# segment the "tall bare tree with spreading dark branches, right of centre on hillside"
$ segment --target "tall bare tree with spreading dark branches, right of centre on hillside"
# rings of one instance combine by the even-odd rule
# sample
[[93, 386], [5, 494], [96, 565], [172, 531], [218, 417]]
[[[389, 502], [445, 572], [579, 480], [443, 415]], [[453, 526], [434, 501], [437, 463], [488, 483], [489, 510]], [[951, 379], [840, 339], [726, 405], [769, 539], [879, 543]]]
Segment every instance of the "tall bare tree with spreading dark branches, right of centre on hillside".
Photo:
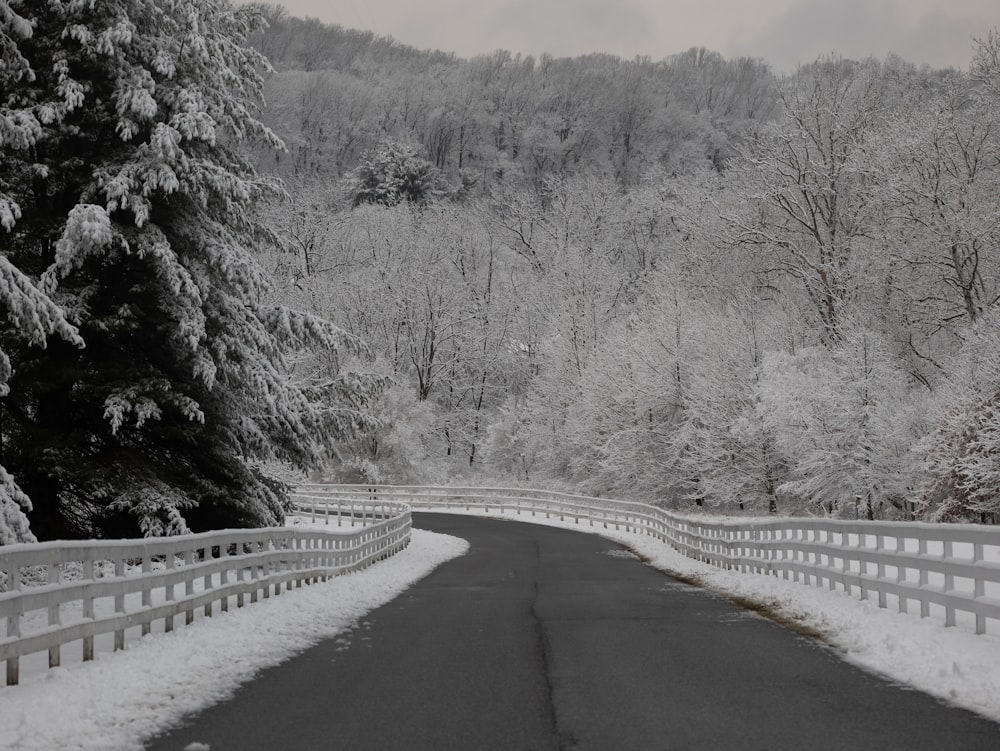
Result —
[[874, 61], [801, 67], [781, 90], [780, 121], [759, 129], [739, 165], [746, 206], [731, 217], [734, 241], [764, 250], [771, 269], [796, 281], [827, 343], [840, 338], [871, 224], [860, 147], [883, 88]]

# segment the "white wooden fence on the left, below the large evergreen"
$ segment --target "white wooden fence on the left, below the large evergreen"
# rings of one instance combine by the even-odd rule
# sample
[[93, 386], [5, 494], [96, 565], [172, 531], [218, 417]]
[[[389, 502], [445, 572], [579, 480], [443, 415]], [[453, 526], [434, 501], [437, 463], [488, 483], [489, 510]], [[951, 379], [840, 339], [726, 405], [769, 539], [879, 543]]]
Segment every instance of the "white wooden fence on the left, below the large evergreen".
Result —
[[[300, 514], [315, 516], [308, 503]], [[393, 502], [344, 505], [340, 528], [319, 526], [223, 530], [144, 540], [55, 541], [0, 547], [0, 662], [6, 683], [19, 679], [20, 658], [48, 650], [49, 667], [61, 649], [81, 642], [94, 657], [94, 637], [114, 634], [124, 649], [125, 630], [163, 621], [171, 631], [184, 615], [211, 616], [213, 607], [243, 607], [331, 576], [366, 568], [405, 548], [410, 510]], [[332, 506], [324, 506], [330, 514]], [[327, 516], [327, 523], [330, 517]], [[356, 527], [344, 529], [343, 527]]]

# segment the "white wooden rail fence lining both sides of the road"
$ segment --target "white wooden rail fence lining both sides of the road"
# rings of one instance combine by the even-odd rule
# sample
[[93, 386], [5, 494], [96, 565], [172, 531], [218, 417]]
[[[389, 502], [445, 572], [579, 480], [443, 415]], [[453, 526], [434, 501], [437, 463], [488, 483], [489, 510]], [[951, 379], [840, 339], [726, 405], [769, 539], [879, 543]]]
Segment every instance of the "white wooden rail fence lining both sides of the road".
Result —
[[[48, 650], [59, 665], [79, 641], [149, 633], [154, 622], [191, 623], [216, 603], [227, 610], [282, 587], [325, 580], [370, 565], [409, 543], [410, 508], [477, 510], [559, 518], [652, 536], [691, 558], [723, 568], [841, 588], [901, 612], [956, 624], [968, 613], [976, 633], [1000, 621], [1000, 529], [958, 524], [833, 519], [707, 520], [628, 501], [510, 488], [303, 485], [300, 514], [324, 526], [226, 530], [199, 535], [0, 547], [0, 661], [8, 685], [19, 658]], [[329, 529], [327, 529], [329, 527]], [[334, 529], [336, 527], [336, 529]], [[350, 529], [348, 529], [350, 528]]]

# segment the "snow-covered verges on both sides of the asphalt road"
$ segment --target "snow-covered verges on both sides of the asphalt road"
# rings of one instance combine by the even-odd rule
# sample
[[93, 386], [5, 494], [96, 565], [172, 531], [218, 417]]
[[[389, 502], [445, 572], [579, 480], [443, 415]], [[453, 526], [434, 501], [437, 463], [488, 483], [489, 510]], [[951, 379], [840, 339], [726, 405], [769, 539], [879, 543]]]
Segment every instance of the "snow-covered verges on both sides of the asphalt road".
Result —
[[[513, 512], [504, 518], [527, 521]], [[532, 521], [603, 534], [657, 568], [761, 602], [819, 631], [866, 669], [1000, 721], [995, 634], [976, 636], [962, 623], [944, 628], [940, 620], [900, 615], [842, 592], [721, 571], [649, 537], [541, 516]], [[414, 530], [406, 550], [365, 571], [138, 639], [125, 652], [99, 653], [94, 662], [29, 670], [22, 685], [0, 688], [0, 749], [142, 748], [144, 738], [232, 694], [260, 669], [350, 629], [467, 548], [463, 540]]]

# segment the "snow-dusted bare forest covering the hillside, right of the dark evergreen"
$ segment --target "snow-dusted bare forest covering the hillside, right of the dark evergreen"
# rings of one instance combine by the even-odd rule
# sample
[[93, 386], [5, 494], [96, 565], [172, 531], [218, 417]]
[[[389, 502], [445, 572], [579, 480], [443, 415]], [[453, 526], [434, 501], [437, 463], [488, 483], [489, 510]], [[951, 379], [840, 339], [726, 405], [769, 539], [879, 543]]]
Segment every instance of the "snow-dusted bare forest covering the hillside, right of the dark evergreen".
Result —
[[[394, 386], [339, 479], [995, 521], [1000, 40], [470, 60], [264, 7], [265, 259]], [[269, 161], [272, 160], [272, 161]]]

